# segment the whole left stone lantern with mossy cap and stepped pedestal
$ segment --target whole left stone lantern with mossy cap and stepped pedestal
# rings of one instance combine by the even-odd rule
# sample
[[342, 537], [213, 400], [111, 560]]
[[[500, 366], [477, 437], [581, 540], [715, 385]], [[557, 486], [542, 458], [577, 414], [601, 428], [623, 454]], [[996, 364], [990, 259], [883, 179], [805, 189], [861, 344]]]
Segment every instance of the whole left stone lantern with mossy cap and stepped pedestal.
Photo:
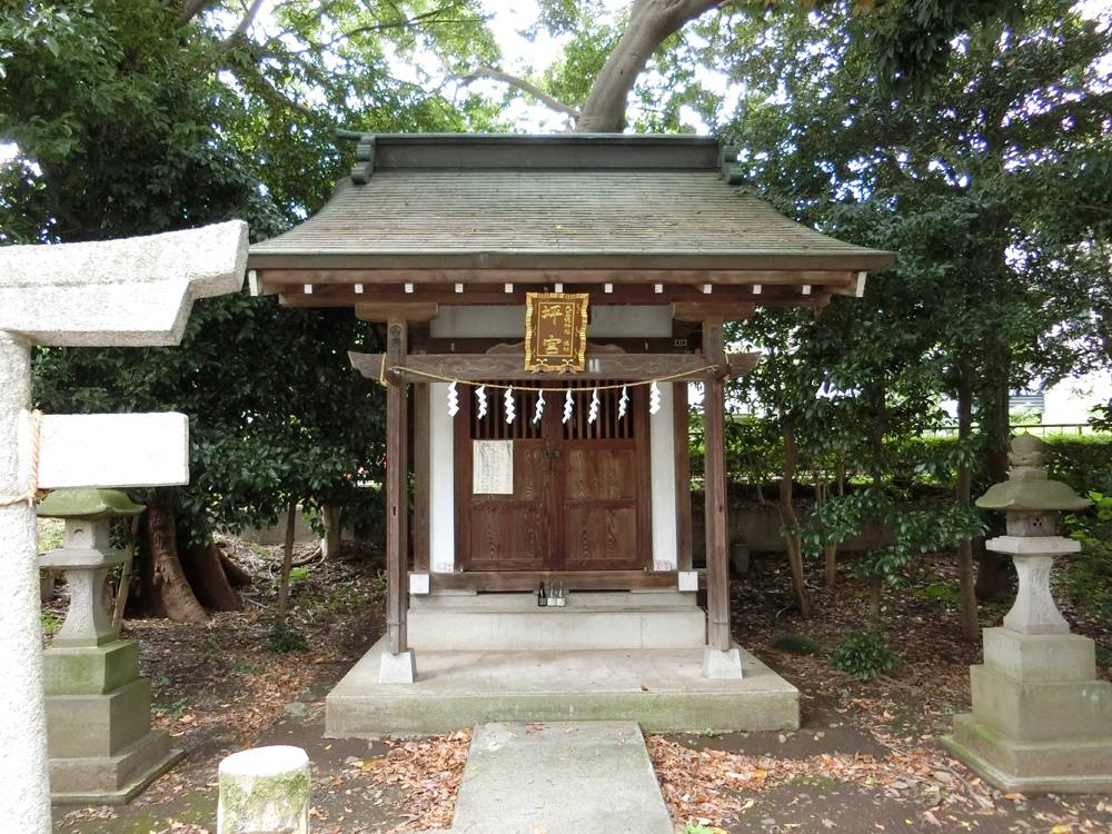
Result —
[[42, 567], [63, 570], [66, 622], [43, 652], [47, 747], [56, 803], [123, 804], [177, 763], [165, 731], [150, 729], [150, 681], [139, 676], [139, 647], [121, 641], [105, 608], [103, 587], [130, 554], [109, 542], [112, 518], [143, 507], [116, 489], [57, 489], [38, 514], [66, 519], [58, 550]]

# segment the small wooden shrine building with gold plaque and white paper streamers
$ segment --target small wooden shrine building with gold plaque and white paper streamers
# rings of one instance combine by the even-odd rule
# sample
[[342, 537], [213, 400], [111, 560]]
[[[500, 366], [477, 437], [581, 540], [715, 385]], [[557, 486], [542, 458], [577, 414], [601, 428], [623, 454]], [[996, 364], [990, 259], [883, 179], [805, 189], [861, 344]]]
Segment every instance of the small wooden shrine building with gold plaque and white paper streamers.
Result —
[[[435, 688], [459, 666], [437, 665], [451, 651], [686, 647], [707, 679], [741, 678], [743, 655], [759, 665], [729, 636], [724, 459], [724, 384], [757, 357], [724, 353], [723, 324], [860, 296], [894, 257], [777, 214], [709, 138], [347, 138], [350, 178], [248, 264], [255, 292], [386, 325], [386, 353], [351, 359], [387, 387], [387, 635], [337, 687], [337, 713], [345, 686]], [[705, 572], [692, 569], [691, 381], [705, 391]], [[566, 606], [539, 608], [542, 585]], [[334, 696], [329, 733], [374, 732], [334, 721]], [[496, 702], [483, 699], [516, 709]]]

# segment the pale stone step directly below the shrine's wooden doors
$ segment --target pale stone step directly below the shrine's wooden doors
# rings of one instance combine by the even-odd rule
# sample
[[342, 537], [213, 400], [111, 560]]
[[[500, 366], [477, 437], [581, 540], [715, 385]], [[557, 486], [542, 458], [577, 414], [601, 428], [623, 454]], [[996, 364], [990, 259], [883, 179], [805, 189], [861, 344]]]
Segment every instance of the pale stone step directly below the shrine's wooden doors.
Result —
[[416, 607], [408, 632], [417, 651], [701, 648], [706, 615], [694, 605]]

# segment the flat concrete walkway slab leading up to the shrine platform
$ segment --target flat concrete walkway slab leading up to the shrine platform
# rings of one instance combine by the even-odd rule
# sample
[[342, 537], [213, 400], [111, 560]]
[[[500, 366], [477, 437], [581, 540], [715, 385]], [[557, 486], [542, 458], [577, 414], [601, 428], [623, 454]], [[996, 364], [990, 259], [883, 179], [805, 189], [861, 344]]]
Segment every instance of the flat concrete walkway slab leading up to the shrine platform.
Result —
[[673, 834], [636, 722], [480, 724], [453, 832]]

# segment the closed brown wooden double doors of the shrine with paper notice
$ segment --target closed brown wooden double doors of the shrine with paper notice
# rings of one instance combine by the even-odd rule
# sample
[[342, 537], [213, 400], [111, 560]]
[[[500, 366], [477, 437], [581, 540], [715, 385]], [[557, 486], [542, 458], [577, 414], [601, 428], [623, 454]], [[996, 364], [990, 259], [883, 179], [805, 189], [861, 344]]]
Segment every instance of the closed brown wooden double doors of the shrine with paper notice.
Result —
[[[456, 548], [465, 570], [639, 570], [649, 565], [644, 386], [627, 389], [629, 403], [622, 418], [622, 390], [598, 391], [598, 417], [589, 421], [590, 385], [567, 383], [574, 391], [567, 423], [562, 394], [545, 393], [544, 414], [535, 424], [538, 393], [515, 387], [517, 417], [507, 424], [504, 389], [486, 389], [488, 407], [481, 419], [474, 389], [461, 393], [456, 416]], [[476, 455], [487, 455], [478, 446], [489, 441], [502, 460], [513, 461], [513, 492], [475, 492], [484, 488], [476, 481], [476, 467], [485, 466]]]

